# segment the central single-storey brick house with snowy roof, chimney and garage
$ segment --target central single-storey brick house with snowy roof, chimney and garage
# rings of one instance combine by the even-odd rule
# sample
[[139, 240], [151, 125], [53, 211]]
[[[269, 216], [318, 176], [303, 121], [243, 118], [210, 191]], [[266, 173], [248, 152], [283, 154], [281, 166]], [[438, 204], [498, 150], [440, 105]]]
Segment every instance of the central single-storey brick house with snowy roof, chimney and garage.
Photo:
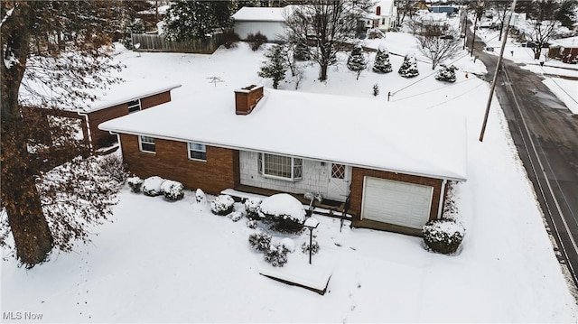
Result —
[[[191, 189], [317, 192], [356, 227], [421, 235], [448, 181], [466, 180], [465, 120], [379, 100], [251, 86], [215, 88], [98, 127], [124, 162]], [[162, 123], [159, 121], [163, 120]]]

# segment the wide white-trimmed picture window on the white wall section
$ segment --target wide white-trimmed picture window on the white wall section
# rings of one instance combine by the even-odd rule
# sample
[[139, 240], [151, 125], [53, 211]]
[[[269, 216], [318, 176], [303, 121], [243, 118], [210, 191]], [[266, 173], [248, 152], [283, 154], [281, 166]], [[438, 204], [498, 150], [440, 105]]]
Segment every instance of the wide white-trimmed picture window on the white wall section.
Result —
[[257, 160], [259, 173], [264, 176], [290, 181], [303, 178], [303, 159], [259, 153]]

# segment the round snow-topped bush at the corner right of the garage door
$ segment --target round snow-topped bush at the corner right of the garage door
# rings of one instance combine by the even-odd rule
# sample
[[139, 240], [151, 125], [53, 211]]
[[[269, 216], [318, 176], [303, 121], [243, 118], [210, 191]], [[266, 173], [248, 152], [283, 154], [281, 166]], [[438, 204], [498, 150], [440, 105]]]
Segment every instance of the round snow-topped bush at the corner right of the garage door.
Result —
[[422, 231], [425, 245], [431, 251], [443, 255], [456, 253], [466, 232], [461, 223], [450, 219], [430, 220], [425, 223]]

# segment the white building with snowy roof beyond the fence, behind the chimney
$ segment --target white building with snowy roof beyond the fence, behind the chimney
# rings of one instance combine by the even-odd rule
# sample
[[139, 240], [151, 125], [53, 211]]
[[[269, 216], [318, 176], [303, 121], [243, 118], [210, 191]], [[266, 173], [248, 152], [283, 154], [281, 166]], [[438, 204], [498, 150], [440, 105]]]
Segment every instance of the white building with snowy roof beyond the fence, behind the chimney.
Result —
[[249, 33], [260, 32], [269, 42], [281, 42], [285, 33], [285, 16], [291, 12], [292, 7], [293, 5], [281, 8], [244, 6], [233, 14], [234, 31], [241, 40], [246, 40]]

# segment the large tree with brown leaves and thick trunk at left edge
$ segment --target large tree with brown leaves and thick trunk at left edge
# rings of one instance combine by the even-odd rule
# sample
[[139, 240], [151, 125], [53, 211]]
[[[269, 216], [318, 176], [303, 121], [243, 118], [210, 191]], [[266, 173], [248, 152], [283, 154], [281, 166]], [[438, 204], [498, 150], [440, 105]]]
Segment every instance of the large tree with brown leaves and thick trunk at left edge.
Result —
[[[117, 7], [117, 2], [96, 0], [6, 0], [0, 6], [0, 245], [8, 244], [10, 231], [15, 256], [27, 267], [45, 261], [52, 248], [70, 251], [75, 238], [86, 239], [89, 226], [107, 218], [114, 203], [108, 190], [90, 182], [86, 168], [78, 176], [66, 168], [47, 175], [63, 157], [82, 154], [81, 144], [66, 121], [31, 123], [23, 119], [23, 107], [78, 106], [96, 98], [93, 89], [116, 81], [107, 76], [121, 68], [112, 63], [109, 48]], [[35, 150], [41, 127], [48, 127], [51, 143]], [[51, 183], [56, 179], [63, 181]]]

